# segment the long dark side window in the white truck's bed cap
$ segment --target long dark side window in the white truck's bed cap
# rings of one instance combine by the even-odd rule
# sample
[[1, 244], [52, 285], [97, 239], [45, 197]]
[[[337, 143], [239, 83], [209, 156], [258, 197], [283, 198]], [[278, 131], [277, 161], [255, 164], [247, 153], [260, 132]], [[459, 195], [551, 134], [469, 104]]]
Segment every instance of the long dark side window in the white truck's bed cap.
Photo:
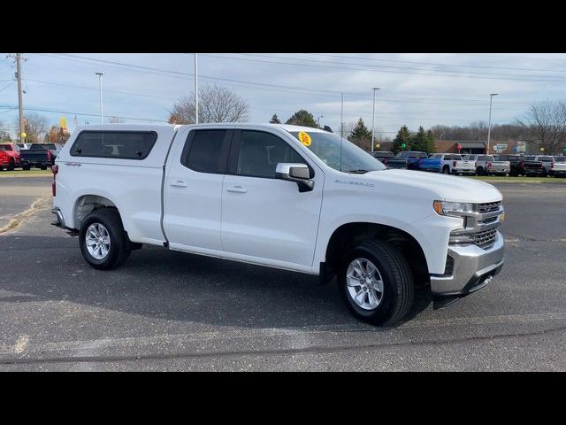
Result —
[[155, 131], [82, 131], [71, 147], [71, 156], [144, 159], [156, 141]]

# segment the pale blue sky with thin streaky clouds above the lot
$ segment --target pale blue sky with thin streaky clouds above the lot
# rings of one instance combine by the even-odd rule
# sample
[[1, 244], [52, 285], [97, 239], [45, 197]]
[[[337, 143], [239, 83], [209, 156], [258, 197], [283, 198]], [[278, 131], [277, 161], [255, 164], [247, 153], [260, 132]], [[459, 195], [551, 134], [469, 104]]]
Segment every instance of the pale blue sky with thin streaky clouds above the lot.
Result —
[[[17, 134], [18, 92], [15, 64], [0, 54], [0, 122]], [[25, 112], [57, 124], [65, 116], [97, 124], [103, 75], [105, 122], [165, 122], [172, 105], [195, 88], [193, 53], [24, 53]], [[434, 125], [466, 126], [487, 121], [489, 94], [493, 124], [524, 116], [531, 104], [566, 98], [565, 54], [464, 53], [199, 53], [199, 83], [233, 89], [249, 102], [249, 121], [267, 122], [273, 113], [287, 120], [306, 109], [334, 131], [343, 120], [372, 119], [376, 91], [376, 137], [394, 137]], [[76, 116], [76, 121], [75, 121]]]

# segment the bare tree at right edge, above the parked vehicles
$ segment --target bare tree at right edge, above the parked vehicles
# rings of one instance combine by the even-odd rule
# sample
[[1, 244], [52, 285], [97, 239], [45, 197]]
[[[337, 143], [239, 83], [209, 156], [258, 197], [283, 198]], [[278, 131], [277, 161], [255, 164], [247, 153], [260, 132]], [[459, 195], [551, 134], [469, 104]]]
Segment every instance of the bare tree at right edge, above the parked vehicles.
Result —
[[558, 153], [566, 143], [566, 103], [563, 101], [533, 104], [518, 122], [526, 131], [527, 141], [544, 148], [548, 155]]

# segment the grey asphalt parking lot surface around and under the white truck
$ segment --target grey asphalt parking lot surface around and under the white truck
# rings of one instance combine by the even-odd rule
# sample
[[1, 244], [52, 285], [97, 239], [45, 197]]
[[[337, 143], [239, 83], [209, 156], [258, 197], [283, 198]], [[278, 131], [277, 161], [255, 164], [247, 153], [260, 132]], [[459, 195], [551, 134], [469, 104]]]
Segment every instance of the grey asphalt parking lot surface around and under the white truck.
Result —
[[4, 177], [0, 370], [566, 370], [566, 184], [496, 186], [501, 274], [373, 328], [308, 275], [153, 247], [96, 271], [50, 226], [50, 178]]

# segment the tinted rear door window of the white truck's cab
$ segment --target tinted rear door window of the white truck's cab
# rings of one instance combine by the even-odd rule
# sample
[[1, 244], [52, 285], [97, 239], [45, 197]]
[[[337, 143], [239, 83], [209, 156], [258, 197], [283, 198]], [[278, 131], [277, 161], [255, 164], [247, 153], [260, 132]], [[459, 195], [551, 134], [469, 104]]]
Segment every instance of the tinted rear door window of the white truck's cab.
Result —
[[181, 164], [199, 173], [224, 173], [228, 150], [228, 130], [196, 130], [187, 138]]

